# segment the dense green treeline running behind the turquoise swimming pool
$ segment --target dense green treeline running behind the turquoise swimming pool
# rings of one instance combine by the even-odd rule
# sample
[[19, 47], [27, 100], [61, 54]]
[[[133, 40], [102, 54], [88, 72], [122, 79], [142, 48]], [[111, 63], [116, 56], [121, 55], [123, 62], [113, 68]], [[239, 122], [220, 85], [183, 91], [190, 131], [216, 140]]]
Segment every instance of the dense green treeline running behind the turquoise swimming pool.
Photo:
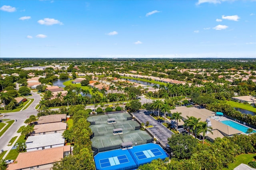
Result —
[[209, 104], [206, 106], [206, 109], [214, 112], [222, 112], [224, 115], [233, 117], [240, 121], [246, 122], [250, 125], [256, 126], [256, 116], [250, 114], [244, 114], [240, 111], [236, 111], [232, 106], [223, 103]]

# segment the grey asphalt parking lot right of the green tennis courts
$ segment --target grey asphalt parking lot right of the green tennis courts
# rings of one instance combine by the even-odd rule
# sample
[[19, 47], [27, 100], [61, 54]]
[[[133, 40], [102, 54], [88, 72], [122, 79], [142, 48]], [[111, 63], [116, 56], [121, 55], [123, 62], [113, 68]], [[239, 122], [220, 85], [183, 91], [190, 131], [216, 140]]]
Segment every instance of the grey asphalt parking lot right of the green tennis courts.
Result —
[[156, 121], [153, 117], [151, 117], [150, 115], [146, 115], [144, 112], [146, 110], [141, 110], [138, 113], [133, 113], [135, 117], [137, 117], [137, 119], [139, 119], [142, 123], [144, 123], [146, 125], [146, 121], [149, 122], [149, 125], [153, 125], [154, 127], [149, 128], [154, 135], [161, 140], [164, 144], [168, 143], [168, 138], [172, 136], [172, 134], [174, 134], [172, 131], [170, 131], [168, 128], [164, 127], [164, 125], [162, 125], [162, 123], [164, 123], [164, 121]]

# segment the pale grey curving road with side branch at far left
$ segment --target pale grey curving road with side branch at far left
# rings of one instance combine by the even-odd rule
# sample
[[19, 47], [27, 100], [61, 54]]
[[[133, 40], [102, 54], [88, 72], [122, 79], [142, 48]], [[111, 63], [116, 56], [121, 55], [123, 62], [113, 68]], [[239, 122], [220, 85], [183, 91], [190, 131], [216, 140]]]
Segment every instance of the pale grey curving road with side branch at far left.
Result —
[[40, 102], [40, 95], [32, 92], [32, 96], [29, 96], [28, 98], [34, 99], [33, 103], [30, 104], [30, 106], [24, 110], [19, 112], [13, 112], [13, 113], [2, 113], [1, 115], [4, 115], [4, 117], [1, 117], [0, 119], [16, 119], [17, 122], [14, 122], [8, 130], [0, 137], [0, 150], [4, 149], [8, 142], [14, 137], [13, 135], [15, 132], [18, 131], [18, 129], [24, 124], [24, 121], [30, 116], [30, 115], [37, 115], [37, 111], [35, 109], [36, 105]]

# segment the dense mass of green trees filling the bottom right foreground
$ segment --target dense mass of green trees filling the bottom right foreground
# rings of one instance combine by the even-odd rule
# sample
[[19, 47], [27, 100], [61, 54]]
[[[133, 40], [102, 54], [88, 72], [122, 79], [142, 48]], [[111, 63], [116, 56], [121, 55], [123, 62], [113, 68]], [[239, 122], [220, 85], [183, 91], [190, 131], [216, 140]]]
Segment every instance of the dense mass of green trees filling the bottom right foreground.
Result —
[[174, 153], [170, 162], [168, 159], [153, 160], [140, 166], [139, 170], [220, 170], [228, 168], [239, 154], [256, 153], [255, 133], [216, 138], [213, 143], [203, 145], [192, 138], [183, 134], [172, 135], [168, 139]]

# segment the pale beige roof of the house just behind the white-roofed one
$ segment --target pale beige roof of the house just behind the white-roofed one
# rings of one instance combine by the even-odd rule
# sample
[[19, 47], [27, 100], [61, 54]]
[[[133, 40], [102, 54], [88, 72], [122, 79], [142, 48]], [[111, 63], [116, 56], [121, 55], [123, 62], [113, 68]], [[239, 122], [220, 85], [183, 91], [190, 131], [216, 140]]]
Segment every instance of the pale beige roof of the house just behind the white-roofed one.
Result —
[[46, 124], [39, 124], [34, 126], [35, 133], [42, 133], [42, 132], [53, 132], [57, 130], [66, 130], [67, 124], [64, 122], [55, 122], [55, 123], [46, 123]]

